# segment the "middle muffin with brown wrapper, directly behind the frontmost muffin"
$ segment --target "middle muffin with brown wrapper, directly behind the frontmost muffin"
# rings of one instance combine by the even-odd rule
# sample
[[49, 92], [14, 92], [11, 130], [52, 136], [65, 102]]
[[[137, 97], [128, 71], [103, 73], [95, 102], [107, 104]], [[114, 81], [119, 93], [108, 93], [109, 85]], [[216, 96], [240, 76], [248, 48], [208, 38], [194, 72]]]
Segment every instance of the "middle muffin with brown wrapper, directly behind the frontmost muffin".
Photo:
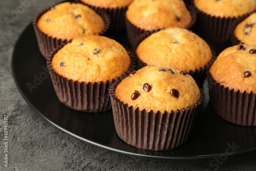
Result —
[[206, 69], [216, 58], [214, 50], [202, 38], [187, 29], [177, 27], [145, 37], [146, 35], [140, 36], [134, 47], [142, 66], [175, 66], [189, 73], [201, 86], [206, 77]]

